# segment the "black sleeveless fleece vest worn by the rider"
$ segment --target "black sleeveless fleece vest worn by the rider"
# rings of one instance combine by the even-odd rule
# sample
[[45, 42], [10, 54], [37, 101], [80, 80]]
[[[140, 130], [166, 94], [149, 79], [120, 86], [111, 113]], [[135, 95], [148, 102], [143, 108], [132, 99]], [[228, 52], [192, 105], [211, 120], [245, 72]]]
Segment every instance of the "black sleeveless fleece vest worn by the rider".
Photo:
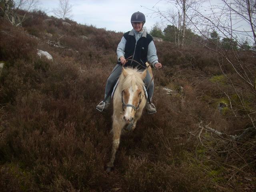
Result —
[[[134, 36], [129, 35], [130, 31], [124, 34], [126, 39], [125, 49], [124, 49], [124, 58], [130, 58], [139, 62], [129, 60], [124, 66], [132, 66], [133, 68], [138, 68], [139, 70], [146, 68], [146, 62], [148, 61], [148, 44], [153, 40], [152, 36], [147, 33], [146, 37], [141, 37], [136, 44], [136, 39]], [[134, 54], [134, 56], [133, 56]], [[118, 62], [121, 64], [121, 62]]]

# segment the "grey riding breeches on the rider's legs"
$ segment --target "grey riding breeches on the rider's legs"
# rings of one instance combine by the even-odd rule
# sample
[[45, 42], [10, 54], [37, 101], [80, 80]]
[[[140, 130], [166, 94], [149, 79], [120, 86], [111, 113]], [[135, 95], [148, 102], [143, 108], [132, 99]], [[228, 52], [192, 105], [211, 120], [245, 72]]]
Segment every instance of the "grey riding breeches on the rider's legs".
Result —
[[[106, 88], [105, 88], [105, 99], [108, 96], [108, 93], [112, 90], [112, 88], [115, 86], [114, 84], [118, 80], [120, 74], [122, 73], [122, 65], [116, 64], [114, 69], [112, 70], [110, 76], [108, 77]], [[151, 77], [149, 72], [147, 71], [146, 78], [144, 78], [144, 83], [146, 84], [146, 88], [148, 87], [148, 97], [150, 98], [150, 101], [152, 100], [152, 96], [154, 93], [154, 80], [151, 81]], [[148, 85], [150, 83], [150, 85]], [[108, 98], [106, 99], [107, 102], [110, 102], [111, 99], [111, 93], [109, 94]]]

